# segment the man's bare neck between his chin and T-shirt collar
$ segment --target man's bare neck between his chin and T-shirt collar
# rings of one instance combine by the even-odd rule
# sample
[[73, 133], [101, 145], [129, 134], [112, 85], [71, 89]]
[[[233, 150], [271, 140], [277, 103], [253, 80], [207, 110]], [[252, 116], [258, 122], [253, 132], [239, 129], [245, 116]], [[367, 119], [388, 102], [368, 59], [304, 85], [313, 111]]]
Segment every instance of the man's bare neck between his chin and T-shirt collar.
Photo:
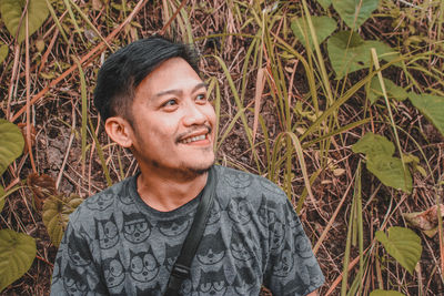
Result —
[[208, 173], [162, 174], [142, 166], [140, 171], [138, 193], [145, 204], [160, 212], [173, 211], [193, 200], [203, 190], [208, 178]]

